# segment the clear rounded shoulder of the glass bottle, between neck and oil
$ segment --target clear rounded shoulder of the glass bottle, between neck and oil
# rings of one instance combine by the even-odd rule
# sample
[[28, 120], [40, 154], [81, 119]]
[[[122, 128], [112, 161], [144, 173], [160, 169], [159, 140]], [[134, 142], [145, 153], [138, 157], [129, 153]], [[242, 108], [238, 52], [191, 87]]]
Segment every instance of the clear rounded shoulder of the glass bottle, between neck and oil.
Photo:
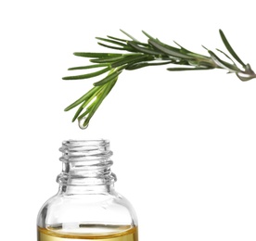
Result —
[[136, 223], [131, 203], [117, 192], [66, 195], [50, 197], [38, 214], [38, 225], [63, 222], [128, 222]]

